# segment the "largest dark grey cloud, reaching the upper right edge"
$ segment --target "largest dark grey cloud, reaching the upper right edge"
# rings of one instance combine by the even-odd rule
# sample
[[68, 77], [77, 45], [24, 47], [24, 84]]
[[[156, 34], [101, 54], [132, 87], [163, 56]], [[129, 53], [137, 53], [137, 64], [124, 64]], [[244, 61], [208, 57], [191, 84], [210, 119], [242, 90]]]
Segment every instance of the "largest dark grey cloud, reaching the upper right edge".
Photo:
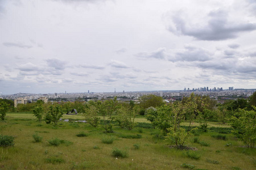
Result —
[[[171, 16], [172, 23], [168, 25], [168, 31], [176, 35], [192, 36], [197, 40], [220, 41], [234, 39], [241, 32], [256, 30], [255, 23], [229, 22], [228, 12], [217, 10], [209, 12], [208, 22], [191, 23], [184, 19], [183, 12], [179, 11]], [[207, 23], [207, 24], [205, 24]]]

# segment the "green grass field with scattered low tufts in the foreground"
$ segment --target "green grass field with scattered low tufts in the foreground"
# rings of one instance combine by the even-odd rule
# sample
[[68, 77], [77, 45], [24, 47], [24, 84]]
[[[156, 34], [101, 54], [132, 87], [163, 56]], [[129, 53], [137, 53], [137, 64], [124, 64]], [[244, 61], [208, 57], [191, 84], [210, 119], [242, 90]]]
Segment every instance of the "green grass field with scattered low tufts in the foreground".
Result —
[[[0, 169], [256, 169], [256, 149], [242, 147], [243, 143], [230, 134], [230, 127], [217, 122], [209, 122], [212, 129], [207, 133], [189, 138], [186, 146], [196, 150], [188, 151], [167, 146], [160, 131], [143, 117], [136, 118], [141, 124], [135, 129], [113, 126], [110, 134], [105, 134], [101, 125], [93, 128], [75, 122], [84, 120], [81, 114], [64, 115], [64, 119], [71, 121], [54, 127], [36, 121], [31, 113], [7, 113], [6, 120], [0, 121], [0, 134], [15, 137], [15, 144], [0, 147]], [[81, 133], [86, 137], [77, 137]], [[42, 142], [35, 142], [34, 134], [43, 137]], [[50, 145], [48, 141], [56, 138], [68, 142]], [[195, 138], [201, 143], [194, 143]], [[113, 156], [114, 149], [125, 153], [125, 158]]]

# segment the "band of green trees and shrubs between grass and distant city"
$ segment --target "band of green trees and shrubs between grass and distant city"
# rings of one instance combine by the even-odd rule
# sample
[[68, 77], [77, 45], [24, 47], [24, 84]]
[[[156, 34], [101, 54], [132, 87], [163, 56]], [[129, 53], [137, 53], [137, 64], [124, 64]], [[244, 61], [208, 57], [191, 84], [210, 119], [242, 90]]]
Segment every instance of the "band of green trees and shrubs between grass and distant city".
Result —
[[[32, 111], [38, 121], [46, 121], [47, 124], [57, 125], [64, 113], [76, 109], [82, 113], [85, 120], [92, 126], [97, 127], [102, 118], [102, 128], [106, 133], [113, 131], [113, 122], [121, 128], [133, 129], [137, 124], [135, 117], [144, 115], [148, 121], [162, 131], [162, 135], [168, 143], [178, 147], [184, 145], [193, 131], [200, 129], [208, 130], [208, 121], [218, 121], [222, 124], [229, 123], [234, 128], [233, 133], [247, 147], [254, 147], [256, 141], [256, 92], [249, 100], [237, 99], [217, 104], [216, 100], [209, 96], [191, 94], [183, 97], [181, 101], [165, 103], [162, 97], [147, 95], [141, 97], [139, 103], [129, 103], [114, 99], [105, 101], [75, 101], [60, 103], [44, 103], [38, 100], [31, 104], [18, 104], [13, 108], [10, 100], [0, 100], [0, 117], [5, 120], [7, 111]], [[181, 122], [188, 122], [185, 129]], [[193, 126], [193, 122], [199, 122], [200, 126]]]

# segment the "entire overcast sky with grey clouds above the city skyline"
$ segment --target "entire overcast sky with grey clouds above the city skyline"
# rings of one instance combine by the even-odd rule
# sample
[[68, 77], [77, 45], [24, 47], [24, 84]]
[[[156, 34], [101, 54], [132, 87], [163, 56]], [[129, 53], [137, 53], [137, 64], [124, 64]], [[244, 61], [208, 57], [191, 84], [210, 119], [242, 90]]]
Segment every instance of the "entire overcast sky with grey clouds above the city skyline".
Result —
[[256, 88], [255, 0], [0, 0], [0, 92]]

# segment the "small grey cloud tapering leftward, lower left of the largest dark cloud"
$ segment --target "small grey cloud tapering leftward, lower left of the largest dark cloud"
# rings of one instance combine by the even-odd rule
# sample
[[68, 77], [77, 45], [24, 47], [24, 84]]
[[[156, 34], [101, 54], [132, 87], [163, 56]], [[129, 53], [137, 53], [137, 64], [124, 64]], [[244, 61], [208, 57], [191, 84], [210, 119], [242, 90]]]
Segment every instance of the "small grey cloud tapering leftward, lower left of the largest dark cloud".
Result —
[[166, 48], [158, 48], [157, 50], [153, 52], [140, 52], [138, 54], [135, 54], [138, 58], [156, 58], [156, 59], [165, 59], [166, 58]]

